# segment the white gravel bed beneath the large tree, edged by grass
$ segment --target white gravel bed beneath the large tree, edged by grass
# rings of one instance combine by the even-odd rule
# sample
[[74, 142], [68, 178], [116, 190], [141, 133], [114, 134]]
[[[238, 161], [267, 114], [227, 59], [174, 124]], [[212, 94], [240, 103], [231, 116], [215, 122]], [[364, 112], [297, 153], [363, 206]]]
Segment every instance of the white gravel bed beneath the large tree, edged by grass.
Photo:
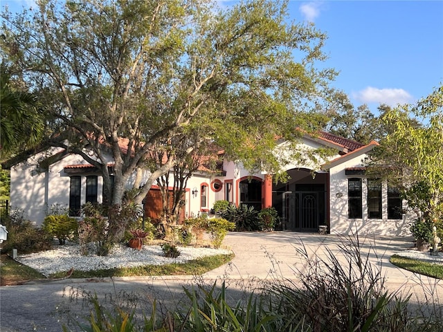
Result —
[[127, 246], [115, 246], [109, 256], [80, 255], [80, 247], [75, 243], [66, 243], [53, 250], [36, 252], [28, 255], [19, 255], [17, 261], [30, 266], [46, 277], [53, 273], [74, 270], [88, 271], [109, 268], [136, 267], [146, 265], [164, 265], [184, 263], [192, 259], [205, 256], [230, 254], [232, 251], [213, 248], [179, 247], [180, 255], [177, 258], [168, 258], [163, 255], [160, 245], [143, 246], [136, 250]]

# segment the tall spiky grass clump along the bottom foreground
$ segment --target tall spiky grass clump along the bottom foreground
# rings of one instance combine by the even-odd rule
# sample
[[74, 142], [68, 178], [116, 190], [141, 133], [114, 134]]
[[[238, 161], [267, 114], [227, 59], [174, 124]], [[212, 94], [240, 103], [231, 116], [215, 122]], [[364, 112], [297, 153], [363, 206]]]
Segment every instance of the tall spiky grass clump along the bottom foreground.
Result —
[[119, 304], [107, 311], [90, 297], [94, 310], [82, 331], [442, 331], [441, 304], [417, 310], [409, 296], [386, 291], [381, 266], [370, 264], [376, 254], [363, 256], [358, 237], [343, 241], [338, 254], [312, 255], [302, 243], [297, 251], [305, 265], [295, 270], [295, 280], [263, 283], [237, 302], [224, 282], [201, 281], [183, 288], [186, 301], [161, 315], [157, 299], [149, 315], [136, 315]]

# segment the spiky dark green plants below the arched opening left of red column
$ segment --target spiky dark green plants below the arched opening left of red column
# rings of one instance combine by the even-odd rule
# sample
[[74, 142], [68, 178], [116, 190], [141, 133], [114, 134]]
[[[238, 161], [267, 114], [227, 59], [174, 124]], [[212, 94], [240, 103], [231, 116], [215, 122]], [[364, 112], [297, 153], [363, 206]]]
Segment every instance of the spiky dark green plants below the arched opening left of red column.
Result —
[[229, 205], [228, 209], [221, 214], [221, 216], [235, 223], [235, 230], [241, 231], [256, 231], [262, 230], [262, 225], [257, 216], [258, 212], [253, 206], [239, 205]]

